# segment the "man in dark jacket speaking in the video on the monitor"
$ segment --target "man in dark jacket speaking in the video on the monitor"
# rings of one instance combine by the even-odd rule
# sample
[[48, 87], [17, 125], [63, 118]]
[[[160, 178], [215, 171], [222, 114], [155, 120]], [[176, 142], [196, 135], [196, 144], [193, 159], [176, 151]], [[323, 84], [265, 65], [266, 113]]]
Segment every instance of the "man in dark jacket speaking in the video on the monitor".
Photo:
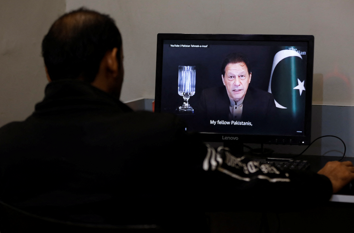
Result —
[[273, 95], [249, 86], [251, 78], [248, 58], [242, 53], [230, 53], [221, 67], [224, 86], [202, 91], [200, 104], [203, 114], [214, 120], [255, 123], [264, 123], [274, 117], [276, 107]]

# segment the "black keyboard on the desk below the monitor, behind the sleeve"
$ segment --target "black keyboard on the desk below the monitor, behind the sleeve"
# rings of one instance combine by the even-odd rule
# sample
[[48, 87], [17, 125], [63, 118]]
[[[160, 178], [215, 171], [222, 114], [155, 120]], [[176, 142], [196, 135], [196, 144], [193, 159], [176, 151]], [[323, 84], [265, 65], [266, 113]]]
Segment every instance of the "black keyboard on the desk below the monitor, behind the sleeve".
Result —
[[295, 160], [295, 159], [254, 159], [259, 161], [259, 164], [269, 164], [276, 167], [279, 170], [307, 170], [310, 166], [307, 160]]

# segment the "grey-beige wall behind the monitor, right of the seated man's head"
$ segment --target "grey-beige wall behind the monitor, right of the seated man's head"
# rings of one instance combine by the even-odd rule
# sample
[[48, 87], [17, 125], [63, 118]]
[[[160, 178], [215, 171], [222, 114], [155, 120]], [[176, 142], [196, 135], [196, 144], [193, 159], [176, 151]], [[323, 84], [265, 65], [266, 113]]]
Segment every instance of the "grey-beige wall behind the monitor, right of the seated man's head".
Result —
[[67, 0], [109, 13], [125, 53], [122, 101], [154, 98], [158, 33], [315, 36], [315, 103], [354, 105], [353, 0]]

